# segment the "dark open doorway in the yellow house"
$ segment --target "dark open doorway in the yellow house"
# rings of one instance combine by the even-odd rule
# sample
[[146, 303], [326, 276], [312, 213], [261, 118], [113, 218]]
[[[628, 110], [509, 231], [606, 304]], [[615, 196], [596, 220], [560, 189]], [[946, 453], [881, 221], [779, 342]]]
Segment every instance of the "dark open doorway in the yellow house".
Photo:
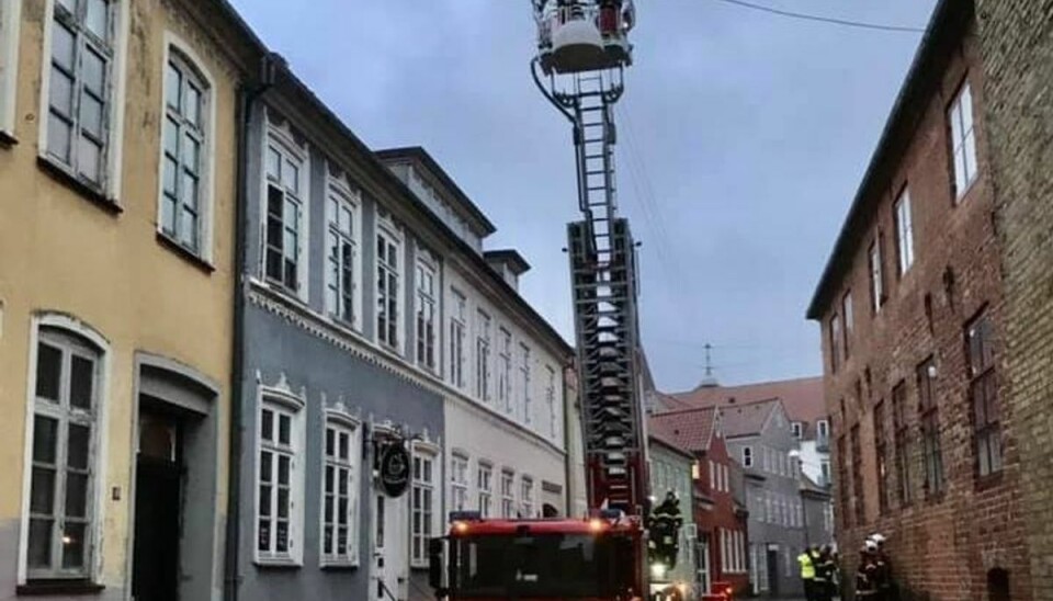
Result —
[[135, 601], [179, 600], [182, 453], [179, 420], [146, 407], [139, 413], [135, 476]]

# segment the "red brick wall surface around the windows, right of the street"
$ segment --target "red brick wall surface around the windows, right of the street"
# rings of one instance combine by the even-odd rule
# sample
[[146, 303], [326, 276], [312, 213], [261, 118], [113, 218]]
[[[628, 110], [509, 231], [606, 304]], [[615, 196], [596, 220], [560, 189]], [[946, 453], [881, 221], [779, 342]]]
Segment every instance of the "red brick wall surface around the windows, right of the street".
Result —
[[[867, 535], [882, 532], [899, 581], [915, 592], [933, 599], [983, 599], [986, 572], [992, 567], [1012, 575], [1012, 599], [1031, 599], [1028, 587], [1027, 553], [1021, 543], [1019, 520], [1019, 456], [1014, 435], [1015, 416], [1003, 405], [1005, 467], [994, 481], [975, 476], [972, 407], [969, 397], [965, 325], [984, 307], [995, 328], [995, 350], [1000, 395], [1007, 394], [1004, 371], [1003, 294], [999, 247], [994, 228], [987, 137], [984, 129], [984, 76], [977, 57], [975, 34], [970, 27], [960, 44], [940, 48], [947, 57], [941, 73], [931, 76], [927, 101], [912, 107], [916, 124], [908, 139], [892, 140], [896, 158], [882, 166], [883, 190], [869, 199], [876, 204], [865, 229], [858, 230], [851, 269], [834, 285], [830, 298], [839, 299], [851, 288], [854, 299], [854, 331], [851, 355], [830, 373], [829, 319], [840, 307], [823, 310], [823, 345], [826, 365], [825, 393], [833, 416], [834, 436], [860, 428], [861, 473], [853, 473], [851, 457], [834, 456], [835, 466], [847, 462], [851, 481], [848, 507], [835, 495], [838, 543], [854, 569], [856, 551]], [[964, 197], [955, 203], [951, 172], [950, 134], [946, 112], [963, 79], [973, 93], [980, 177]], [[915, 118], [915, 115], [908, 115]], [[904, 185], [910, 191], [914, 220], [914, 265], [897, 275], [896, 227], [893, 203]], [[875, 315], [871, 308], [868, 248], [883, 237], [883, 263], [887, 300]], [[953, 273], [953, 288], [946, 274]], [[931, 299], [931, 328], [926, 296]], [[944, 492], [926, 498], [922, 489], [918, 385], [915, 370], [935, 355], [936, 400], [939, 405], [940, 439], [944, 466]], [[869, 374], [869, 375], [868, 375]], [[908, 440], [913, 501], [904, 506], [897, 496], [895, 445], [892, 430], [892, 389], [905, 381], [907, 387]], [[842, 402], [843, 399], [843, 413]], [[885, 400], [885, 440], [890, 503], [879, 514], [878, 464], [874, 452], [873, 407]], [[850, 445], [846, 444], [850, 449]], [[835, 474], [837, 469], [835, 467]], [[854, 478], [862, 478], [863, 499], [854, 495]], [[863, 514], [857, 514], [862, 506]], [[845, 512], [849, 526], [845, 528]]]

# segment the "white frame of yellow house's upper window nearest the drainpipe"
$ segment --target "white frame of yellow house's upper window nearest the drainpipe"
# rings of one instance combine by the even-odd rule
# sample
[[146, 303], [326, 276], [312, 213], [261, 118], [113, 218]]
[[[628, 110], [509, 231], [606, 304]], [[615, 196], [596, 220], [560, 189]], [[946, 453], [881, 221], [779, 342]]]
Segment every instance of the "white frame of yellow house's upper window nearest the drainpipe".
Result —
[[[195, 87], [200, 87], [199, 99], [199, 124], [192, 124], [186, 121], [183, 113], [172, 107], [168, 103], [170, 81], [168, 80], [169, 65], [174, 64], [182, 75], [180, 81], [185, 81], [188, 71]], [[215, 197], [215, 156], [216, 156], [216, 102], [215, 102], [215, 79], [211, 71], [205, 67], [205, 61], [194, 52], [193, 47], [184, 42], [180, 36], [172, 32], [165, 32], [165, 72], [161, 77], [161, 115], [162, 123], [159, 126], [159, 152], [160, 167], [157, 179], [157, 231], [171, 240], [173, 243], [184, 248], [188, 252], [201, 258], [205, 262], [213, 262], [213, 227], [215, 219], [214, 197]], [[196, 80], [196, 81], [194, 81]], [[180, 143], [177, 143], [177, 195], [182, 196], [184, 192], [180, 182], [184, 171], [182, 157], [182, 137], [184, 133], [196, 138], [199, 148], [197, 166], [197, 231], [194, 233], [193, 243], [188, 243], [184, 239], [181, 227], [181, 213], [184, 206], [183, 199], [176, 199], [176, 228], [171, 231], [166, 229], [165, 223], [165, 162], [167, 158], [166, 135], [169, 120], [178, 122], [178, 136]]]

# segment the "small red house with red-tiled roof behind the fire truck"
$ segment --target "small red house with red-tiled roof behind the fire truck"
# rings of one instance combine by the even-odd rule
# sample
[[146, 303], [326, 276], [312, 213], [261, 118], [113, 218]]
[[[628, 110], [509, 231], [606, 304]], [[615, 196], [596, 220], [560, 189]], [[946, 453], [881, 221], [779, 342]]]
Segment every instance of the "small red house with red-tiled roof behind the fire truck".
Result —
[[715, 408], [653, 415], [648, 422], [653, 433], [695, 458], [695, 590], [701, 591], [717, 581], [731, 582], [736, 591], [749, 586], [746, 515], [736, 509], [732, 486], [738, 468], [728, 455], [721, 422]]

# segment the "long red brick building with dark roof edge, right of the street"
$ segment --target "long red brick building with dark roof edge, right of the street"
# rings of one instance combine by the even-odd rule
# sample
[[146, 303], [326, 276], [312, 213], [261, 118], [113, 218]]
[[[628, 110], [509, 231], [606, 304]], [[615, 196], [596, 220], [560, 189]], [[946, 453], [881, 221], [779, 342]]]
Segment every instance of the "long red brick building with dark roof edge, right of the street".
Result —
[[941, 1], [807, 311], [845, 568], [880, 531], [932, 599], [1033, 598], [987, 107], [972, 2]]

